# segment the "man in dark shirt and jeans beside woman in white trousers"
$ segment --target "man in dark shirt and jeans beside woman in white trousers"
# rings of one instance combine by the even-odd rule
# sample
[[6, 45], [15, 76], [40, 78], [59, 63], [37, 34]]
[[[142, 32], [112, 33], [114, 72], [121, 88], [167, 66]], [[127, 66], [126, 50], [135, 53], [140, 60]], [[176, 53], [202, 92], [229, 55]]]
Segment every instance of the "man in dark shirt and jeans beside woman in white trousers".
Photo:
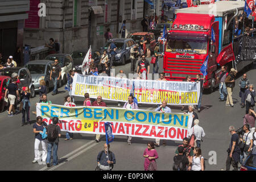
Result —
[[[56, 166], [58, 164], [58, 146], [59, 146], [59, 137], [60, 135], [60, 126], [57, 125], [59, 122], [58, 117], [52, 118], [52, 124], [48, 125], [47, 127], [47, 158], [46, 158], [46, 164], [47, 167], [50, 167], [51, 162], [51, 155], [53, 156], [53, 166]], [[53, 154], [52, 154], [53, 150]]]

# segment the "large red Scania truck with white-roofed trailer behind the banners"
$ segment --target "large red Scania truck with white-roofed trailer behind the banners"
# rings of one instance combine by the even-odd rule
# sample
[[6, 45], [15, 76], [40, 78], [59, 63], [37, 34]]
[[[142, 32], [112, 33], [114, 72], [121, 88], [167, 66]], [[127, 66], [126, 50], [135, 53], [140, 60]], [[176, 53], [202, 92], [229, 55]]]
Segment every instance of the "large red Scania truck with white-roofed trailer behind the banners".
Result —
[[[164, 51], [163, 69], [166, 79], [182, 81], [189, 75], [195, 80], [198, 73], [203, 75], [200, 68], [209, 55], [204, 89], [212, 92], [219, 84], [217, 77], [221, 71], [216, 58], [223, 48], [233, 43], [234, 18], [244, 6], [243, 1], [221, 1], [214, 5], [175, 10], [176, 18], [167, 34]], [[211, 40], [212, 28], [215, 42]], [[238, 71], [252, 61], [237, 64]]]

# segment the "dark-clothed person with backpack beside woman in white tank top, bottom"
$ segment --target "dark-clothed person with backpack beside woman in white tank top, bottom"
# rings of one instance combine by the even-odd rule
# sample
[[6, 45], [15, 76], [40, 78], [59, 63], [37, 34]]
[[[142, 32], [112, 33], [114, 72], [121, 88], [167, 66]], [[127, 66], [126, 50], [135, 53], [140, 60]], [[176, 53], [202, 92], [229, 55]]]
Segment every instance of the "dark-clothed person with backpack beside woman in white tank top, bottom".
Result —
[[184, 155], [184, 147], [179, 146], [177, 148], [178, 155], [174, 156], [174, 164], [172, 169], [174, 171], [187, 171], [187, 165], [189, 165], [189, 160], [186, 155]]

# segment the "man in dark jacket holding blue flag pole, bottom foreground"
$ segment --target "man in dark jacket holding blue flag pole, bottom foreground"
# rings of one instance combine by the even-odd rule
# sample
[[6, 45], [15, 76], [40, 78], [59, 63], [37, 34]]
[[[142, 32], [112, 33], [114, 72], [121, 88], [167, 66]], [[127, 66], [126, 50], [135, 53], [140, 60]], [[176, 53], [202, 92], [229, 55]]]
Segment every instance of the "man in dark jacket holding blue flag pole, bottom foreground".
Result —
[[[104, 144], [104, 150], [100, 151], [97, 156], [98, 171], [112, 171], [115, 164], [115, 155], [109, 150], [110, 144]], [[97, 169], [96, 168], [96, 169]]]

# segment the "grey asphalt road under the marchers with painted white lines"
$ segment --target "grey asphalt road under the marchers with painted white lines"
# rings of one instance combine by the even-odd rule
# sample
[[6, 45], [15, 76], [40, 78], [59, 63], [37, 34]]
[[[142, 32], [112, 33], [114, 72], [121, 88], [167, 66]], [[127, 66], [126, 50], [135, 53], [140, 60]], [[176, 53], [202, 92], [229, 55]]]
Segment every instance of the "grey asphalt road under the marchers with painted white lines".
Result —
[[[160, 59], [159, 72], [163, 71], [163, 59]], [[125, 73], [130, 71], [130, 63], [125, 66], [115, 67], [122, 69]], [[256, 83], [256, 67], [250, 69], [247, 75], [252, 83]], [[152, 71], [152, 68], [151, 68]], [[226, 149], [228, 148], [230, 135], [228, 127], [242, 126], [242, 116], [245, 114], [245, 108], [241, 109], [240, 97], [238, 96], [238, 76], [236, 88], [233, 92], [234, 107], [225, 106], [225, 102], [219, 102], [218, 90], [211, 94], [204, 94], [202, 99], [202, 110], [199, 113], [200, 126], [204, 128], [206, 137], [201, 144], [203, 156], [210, 159], [209, 152], [216, 152], [216, 164], [210, 165], [206, 160], [207, 170], [221, 170], [225, 168]], [[54, 104], [64, 104], [64, 96], [67, 92], [64, 87], [60, 89], [56, 96], [48, 94], [49, 100]], [[39, 97], [31, 99], [31, 111], [35, 110], [35, 103]], [[82, 105], [82, 98], [76, 98], [76, 104]], [[117, 106], [117, 102], [109, 102], [108, 106]], [[154, 105], [142, 105], [140, 109], [154, 110]], [[171, 107], [172, 111], [179, 113], [180, 107]], [[0, 113], [0, 170], [94, 170], [96, 167], [96, 157], [99, 151], [103, 149], [104, 137], [100, 143], [94, 141], [95, 136], [91, 134], [74, 134], [73, 140], [64, 141], [65, 133], [62, 133], [59, 143], [59, 165], [47, 168], [44, 165], [32, 164], [34, 160], [34, 133], [32, 125], [21, 126], [22, 115], [7, 117], [6, 111]], [[36, 115], [31, 114], [31, 120], [35, 122]], [[117, 158], [117, 164], [114, 170], [143, 170], [143, 151], [146, 148], [148, 140], [143, 138], [133, 138], [131, 146], [127, 145], [127, 139], [123, 136], [115, 136], [111, 143], [110, 150], [114, 152]], [[159, 159], [157, 160], [159, 170], [171, 170], [174, 152], [179, 143], [168, 140], [167, 146], [157, 147]]]

